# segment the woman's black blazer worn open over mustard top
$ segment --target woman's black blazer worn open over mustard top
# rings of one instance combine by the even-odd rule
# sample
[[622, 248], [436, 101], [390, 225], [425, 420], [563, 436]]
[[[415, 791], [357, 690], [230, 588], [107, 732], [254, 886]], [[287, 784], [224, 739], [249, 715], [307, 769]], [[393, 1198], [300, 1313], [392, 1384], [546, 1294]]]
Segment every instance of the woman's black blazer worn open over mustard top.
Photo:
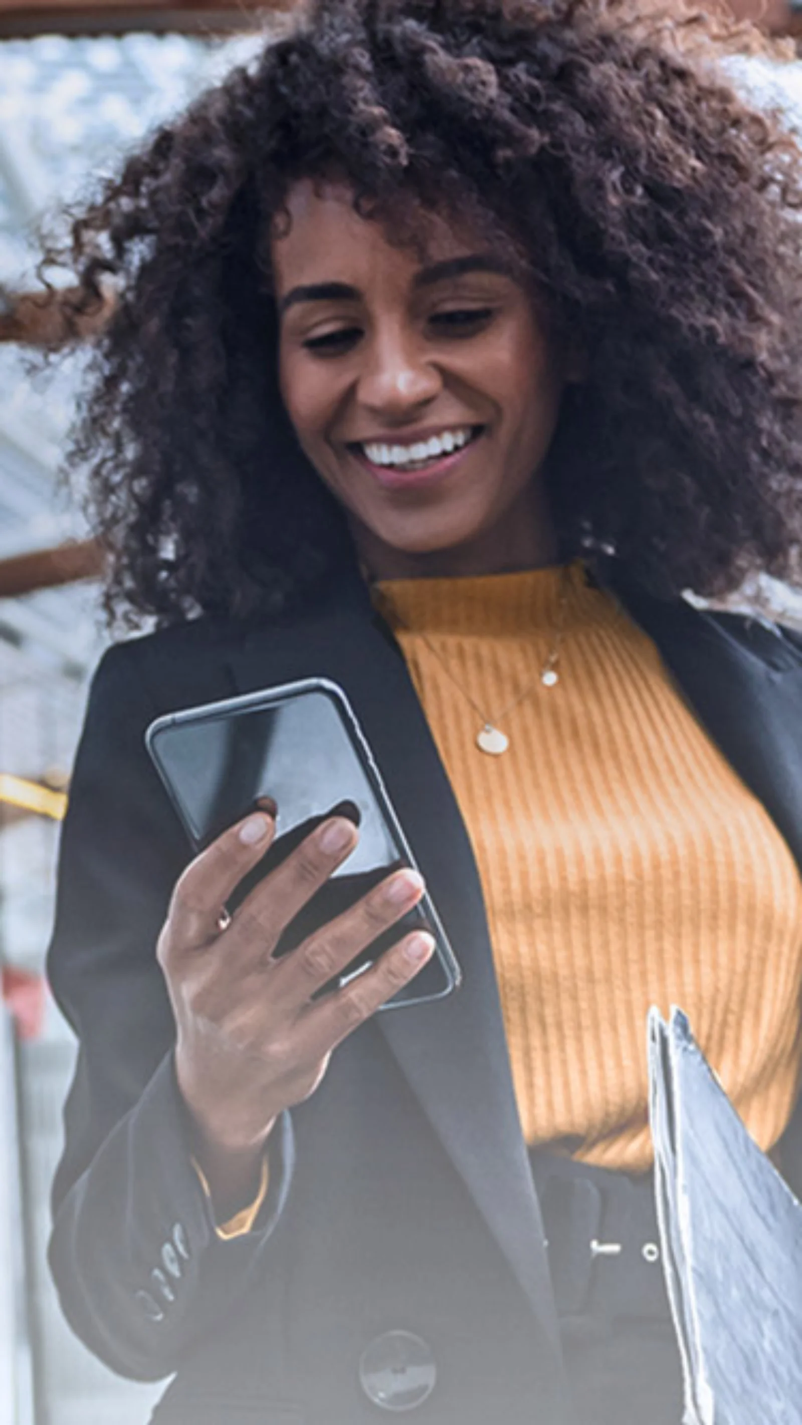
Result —
[[[618, 593], [802, 866], [799, 636]], [[222, 1243], [189, 1164], [154, 958], [188, 846], [142, 734], [168, 710], [313, 674], [346, 690], [365, 727], [464, 983], [443, 1003], [379, 1015], [336, 1050], [271, 1140], [255, 1231]], [[360, 581], [283, 624], [201, 620], [104, 657], [50, 975], [80, 1036], [51, 1265], [74, 1330], [108, 1365], [175, 1372], [161, 1425], [379, 1425], [387, 1392], [420, 1425], [567, 1418], [476, 865]], [[802, 1183], [802, 1123], [783, 1161]]]

